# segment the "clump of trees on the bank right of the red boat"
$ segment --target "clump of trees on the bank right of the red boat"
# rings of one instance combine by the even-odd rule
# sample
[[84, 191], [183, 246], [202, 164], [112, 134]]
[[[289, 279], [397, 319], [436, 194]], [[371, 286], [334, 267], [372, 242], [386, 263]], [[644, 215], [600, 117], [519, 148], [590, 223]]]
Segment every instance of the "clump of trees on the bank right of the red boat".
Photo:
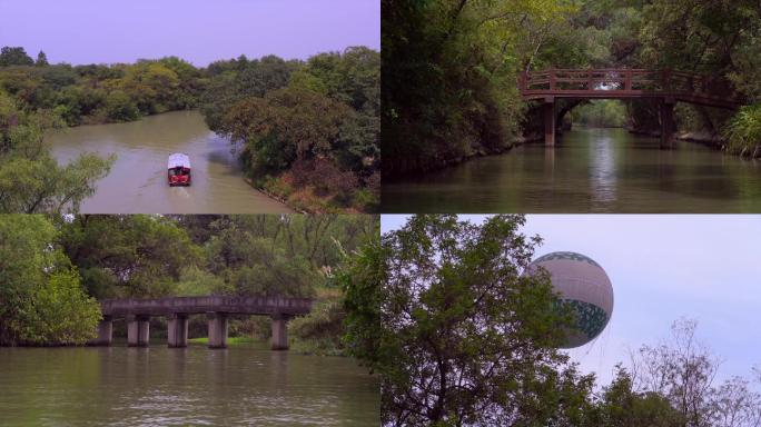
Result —
[[379, 198], [381, 58], [367, 48], [306, 62], [240, 57], [209, 66], [201, 113], [240, 143], [257, 186], [300, 209], [372, 211]]

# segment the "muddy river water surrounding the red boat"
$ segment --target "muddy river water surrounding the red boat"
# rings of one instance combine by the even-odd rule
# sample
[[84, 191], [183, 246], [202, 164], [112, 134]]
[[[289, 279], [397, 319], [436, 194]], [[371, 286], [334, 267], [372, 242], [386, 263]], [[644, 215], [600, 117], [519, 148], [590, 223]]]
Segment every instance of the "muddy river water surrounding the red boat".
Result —
[[[111, 172], [85, 200], [83, 214], [270, 214], [285, 205], [244, 180], [227, 139], [211, 132], [196, 111], [176, 111], [116, 125], [81, 126], [46, 139], [59, 161], [82, 151], [116, 152]], [[190, 157], [192, 185], [167, 185], [167, 158]]]

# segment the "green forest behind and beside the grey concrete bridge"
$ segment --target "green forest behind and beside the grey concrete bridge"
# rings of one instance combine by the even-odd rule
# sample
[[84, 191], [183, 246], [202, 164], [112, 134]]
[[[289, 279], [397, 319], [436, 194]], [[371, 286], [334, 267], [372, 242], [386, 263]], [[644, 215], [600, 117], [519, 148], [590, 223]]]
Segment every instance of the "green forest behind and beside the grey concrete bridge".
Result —
[[[0, 216], [0, 345], [82, 344], [98, 299], [250, 295], [316, 298], [289, 322], [294, 348], [342, 354], [336, 276], [377, 234], [366, 215]], [[206, 336], [202, 318], [190, 328]], [[269, 327], [241, 318], [230, 332], [264, 339]]]

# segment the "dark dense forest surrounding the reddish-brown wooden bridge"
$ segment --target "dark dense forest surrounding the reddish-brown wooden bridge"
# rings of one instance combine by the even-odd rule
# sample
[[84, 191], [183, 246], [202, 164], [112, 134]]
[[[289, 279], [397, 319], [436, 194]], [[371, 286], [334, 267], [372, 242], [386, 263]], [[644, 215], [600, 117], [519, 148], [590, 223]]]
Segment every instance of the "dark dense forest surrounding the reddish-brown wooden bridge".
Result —
[[[761, 155], [761, 6], [739, 0], [382, 0], [384, 175], [496, 153], [532, 138], [521, 71], [648, 68], [709, 76], [748, 107], [678, 105], [681, 130]], [[559, 116], [580, 101], [563, 101]], [[658, 105], [627, 101], [631, 131], [659, 129]], [[562, 123], [562, 120], [559, 120]]]

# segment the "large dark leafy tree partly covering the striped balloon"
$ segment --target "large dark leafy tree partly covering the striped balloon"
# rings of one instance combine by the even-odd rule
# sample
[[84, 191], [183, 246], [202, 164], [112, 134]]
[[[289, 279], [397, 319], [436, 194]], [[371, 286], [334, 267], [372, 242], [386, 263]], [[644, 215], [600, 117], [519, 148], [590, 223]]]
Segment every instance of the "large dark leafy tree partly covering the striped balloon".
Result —
[[572, 321], [521, 216], [415, 216], [340, 274], [347, 347], [382, 376], [384, 425], [576, 425], [593, 377], [555, 347]]

